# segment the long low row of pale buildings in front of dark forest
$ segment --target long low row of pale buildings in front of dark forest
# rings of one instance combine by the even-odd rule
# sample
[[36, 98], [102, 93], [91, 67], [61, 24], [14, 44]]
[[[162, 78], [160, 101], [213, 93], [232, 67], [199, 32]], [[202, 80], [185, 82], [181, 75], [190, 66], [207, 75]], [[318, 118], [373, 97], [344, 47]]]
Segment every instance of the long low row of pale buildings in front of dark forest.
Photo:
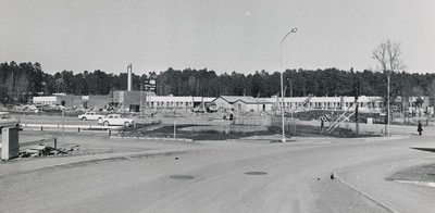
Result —
[[[393, 109], [396, 111], [410, 112], [414, 108], [418, 98], [423, 100], [420, 108], [428, 106], [428, 97], [398, 97], [394, 101]], [[284, 109], [293, 110], [346, 110], [353, 105], [355, 97], [286, 97]], [[109, 96], [70, 96], [57, 95], [50, 97], [34, 97], [36, 104], [58, 104], [67, 108], [82, 109], [122, 109], [139, 111], [140, 109], [186, 109], [212, 105], [215, 110], [235, 112], [263, 112], [281, 109], [281, 97], [253, 98], [247, 96], [220, 96], [210, 97], [175, 97], [156, 96], [145, 91], [113, 91]], [[360, 111], [383, 112], [385, 109], [382, 97], [358, 98]]]

